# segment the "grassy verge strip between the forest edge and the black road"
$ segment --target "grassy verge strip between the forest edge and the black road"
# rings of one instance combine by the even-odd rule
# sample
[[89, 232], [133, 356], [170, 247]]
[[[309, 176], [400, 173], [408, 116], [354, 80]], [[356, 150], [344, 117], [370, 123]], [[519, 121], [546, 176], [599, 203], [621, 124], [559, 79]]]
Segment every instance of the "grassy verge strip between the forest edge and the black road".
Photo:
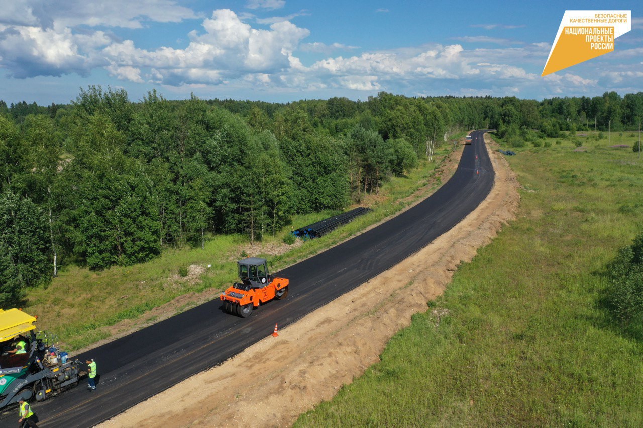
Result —
[[[444, 145], [436, 151], [436, 159], [444, 159], [452, 148]], [[425, 162], [408, 177], [392, 177], [379, 195], [365, 198], [365, 204], [374, 208], [371, 213], [327, 236], [293, 247], [280, 256], [248, 255], [266, 257], [273, 271], [307, 258], [406, 207], [410, 201], [401, 200], [426, 185], [439, 167], [439, 162]], [[437, 188], [440, 184], [433, 180], [431, 187]], [[291, 226], [274, 237], [266, 236], [264, 242], [281, 244], [292, 228], [303, 227], [337, 213], [326, 211], [296, 216]], [[150, 262], [131, 267], [91, 271], [73, 265], [64, 266], [49, 287], [28, 290], [28, 305], [24, 310], [38, 315], [39, 328], [59, 335], [64, 348], [77, 350], [110, 337], [114, 329], [109, 326], [124, 319], [138, 319], [150, 309], [177, 296], [206, 289], [225, 289], [236, 278], [235, 260], [241, 258], [244, 248], [248, 248], [246, 236], [218, 235], [211, 236], [203, 250], [168, 249]], [[201, 271], [208, 265], [211, 267], [200, 273], [190, 269], [193, 265], [200, 267]], [[195, 304], [194, 299], [185, 300], [186, 303], [176, 308], [176, 312]]]

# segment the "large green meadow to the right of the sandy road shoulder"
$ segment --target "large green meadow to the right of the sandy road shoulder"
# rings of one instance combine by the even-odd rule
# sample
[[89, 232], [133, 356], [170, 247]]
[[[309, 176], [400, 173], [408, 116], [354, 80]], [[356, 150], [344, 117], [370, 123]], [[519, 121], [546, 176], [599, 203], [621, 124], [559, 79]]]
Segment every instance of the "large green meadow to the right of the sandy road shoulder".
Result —
[[518, 218], [430, 302], [448, 316], [416, 314], [296, 426], [643, 425], [643, 344], [601, 307], [606, 263], [643, 230], [624, 134], [512, 148]]

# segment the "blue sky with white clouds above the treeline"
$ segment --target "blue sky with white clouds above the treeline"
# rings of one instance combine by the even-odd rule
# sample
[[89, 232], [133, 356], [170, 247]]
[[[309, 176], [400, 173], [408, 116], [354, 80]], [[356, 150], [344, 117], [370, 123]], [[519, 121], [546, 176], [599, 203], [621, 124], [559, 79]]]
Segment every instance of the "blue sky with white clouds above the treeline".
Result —
[[[615, 50], [541, 77], [565, 10], [631, 10]], [[80, 89], [291, 102], [643, 91], [640, 1], [5, 0], [0, 100]]]

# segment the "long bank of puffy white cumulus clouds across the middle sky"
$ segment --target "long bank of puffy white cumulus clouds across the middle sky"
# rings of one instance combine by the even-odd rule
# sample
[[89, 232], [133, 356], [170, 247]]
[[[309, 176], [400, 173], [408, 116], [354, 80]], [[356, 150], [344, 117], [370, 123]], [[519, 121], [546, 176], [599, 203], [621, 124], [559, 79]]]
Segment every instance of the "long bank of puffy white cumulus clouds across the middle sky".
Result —
[[[161, 48], [145, 51], [127, 40], [104, 49], [113, 67], [150, 67], [151, 80], [164, 85], [221, 84], [243, 81], [246, 84], [278, 90], [279, 87], [298, 91], [312, 88], [343, 88], [349, 91], [379, 91], [399, 85], [435, 85], [433, 82], [476, 82], [514, 92], [517, 84], [538, 85], [539, 76], [507, 60], [520, 53], [525, 57], [545, 46], [524, 48], [480, 49], [466, 51], [459, 44], [424, 46], [397, 51], [365, 52], [352, 57], [328, 57], [304, 66], [293, 55], [308, 30], [291, 22], [278, 22], [270, 30], [251, 28], [230, 10], [213, 13], [204, 21], [206, 33], [190, 34], [186, 49]], [[334, 47], [338, 48], [338, 45]], [[303, 49], [329, 48], [324, 44], [306, 44]], [[499, 51], [499, 52], [498, 52]], [[490, 52], [496, 55], [489, 55]], [[519, 56], [520, 56], [519, 55]], [[493, 62], [478, 61], [491, 58]], [[114, 75], [118, 68], [110, 69]], [[125, 73], [127, 71], [127, 73]], [[129, 74], [128, 74], [129, 73]], [[134, 69], [120, 71], [122, 78], [139, 78]], [[509, 84], [498, 85], [499, 82]], [[541, 82], [541, 81], [540, 81]], [[590, 85], [593, 82], [578, 76], [548, 80], [556, 91], [563, 85]], [[498, 89], [500, 90], [500, 89]]]

